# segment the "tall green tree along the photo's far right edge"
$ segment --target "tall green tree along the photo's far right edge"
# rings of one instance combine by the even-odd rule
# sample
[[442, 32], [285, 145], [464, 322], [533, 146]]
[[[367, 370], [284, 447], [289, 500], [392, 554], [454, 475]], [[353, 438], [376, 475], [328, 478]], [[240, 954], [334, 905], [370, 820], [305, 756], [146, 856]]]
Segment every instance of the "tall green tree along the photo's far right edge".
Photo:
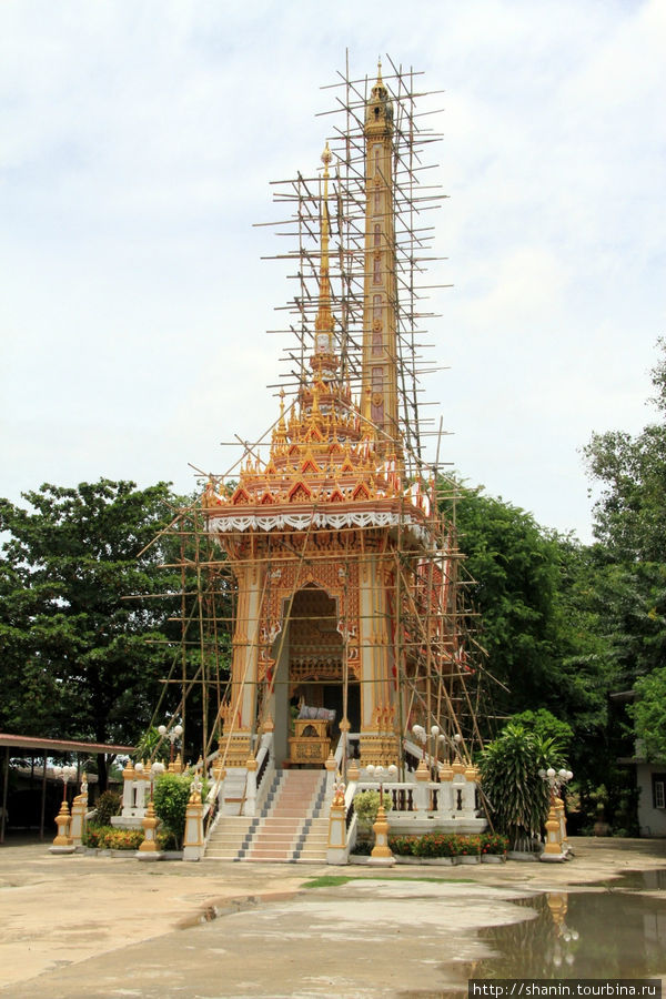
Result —
[[[592, 807], [603, 799], [607, 817], [632, 827], [630, 771], [614, 766], [619, 756], [633, 754], [635, 736], [648, 751], [658, 751], [655, 737], [663, 720], [660, 683], [666, 664], [666, 343], [652, 372], [659, 421], [633, 436], [622, 431], [594, 434], [584, 448], [588, 472], [601, 492], [594, 506], [596, 544], [588, 549], [593, 567], [591, 605], [596, 614], [596, 635], [604, 645], [606, 690], [635, 688], [642, 697], [629, 708], [610, 700], [605, 730], [606, 773], [597, 768], [596, 786], [583, 784], [582, 803]], [[627, 724], [628, 723], [628, 724]], [[632, 727], [632, 723], [633, 726]], [[602, 758], [589, 747], [592, 759]]]

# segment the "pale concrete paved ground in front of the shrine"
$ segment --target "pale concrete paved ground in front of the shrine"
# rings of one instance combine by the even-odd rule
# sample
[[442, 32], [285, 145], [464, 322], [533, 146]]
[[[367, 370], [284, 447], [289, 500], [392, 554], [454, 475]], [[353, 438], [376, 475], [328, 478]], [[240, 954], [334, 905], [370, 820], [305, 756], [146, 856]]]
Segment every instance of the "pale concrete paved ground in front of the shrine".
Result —
[[[401, 866], [377, 878], [351, 866], [53, 857], [10, 842], [0, 995], [440, 997], [487, 958], [480, 928], [535, 918], [521, 899], [666, 868], [666, 840], [581, 839], [575, 852], [562, 865]], [[354, 880], [302, 887], [321, 875]]]

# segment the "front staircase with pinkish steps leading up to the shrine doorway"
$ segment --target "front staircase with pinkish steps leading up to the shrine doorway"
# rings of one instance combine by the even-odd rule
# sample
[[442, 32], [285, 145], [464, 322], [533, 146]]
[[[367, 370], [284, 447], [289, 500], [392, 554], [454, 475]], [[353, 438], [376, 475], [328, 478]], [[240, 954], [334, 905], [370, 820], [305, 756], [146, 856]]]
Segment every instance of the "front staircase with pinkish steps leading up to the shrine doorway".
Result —
[[206, 859], [325, 864], [325, 788], [323, 770], [276, 770], [261, 815], [220, 817]]

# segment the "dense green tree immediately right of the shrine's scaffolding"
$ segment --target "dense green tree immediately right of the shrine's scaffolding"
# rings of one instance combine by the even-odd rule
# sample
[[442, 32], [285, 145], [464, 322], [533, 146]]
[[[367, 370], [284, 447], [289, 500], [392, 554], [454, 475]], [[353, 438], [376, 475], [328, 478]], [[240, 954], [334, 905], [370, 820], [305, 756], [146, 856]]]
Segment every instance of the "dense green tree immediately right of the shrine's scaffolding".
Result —
[[[450, 516], [453, 516], [453, 508]], [[605, 723], [605, 643], [587, 549], [482, 488], [460, 488], [458, 544], [480, 613], [495, 712], [546, 708], [578, 737]]]

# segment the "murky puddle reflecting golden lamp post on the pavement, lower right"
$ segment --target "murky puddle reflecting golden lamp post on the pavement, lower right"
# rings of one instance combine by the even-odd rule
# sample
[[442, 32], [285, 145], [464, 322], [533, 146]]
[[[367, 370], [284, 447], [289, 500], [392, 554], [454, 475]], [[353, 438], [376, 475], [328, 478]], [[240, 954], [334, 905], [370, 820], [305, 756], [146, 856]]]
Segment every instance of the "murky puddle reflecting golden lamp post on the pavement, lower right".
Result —
[[[638, 890], [659, 890], [666, 871], [642, 877]], [[640, 978], [664, 972], [666, 901], [632, 895], [626, 884], [617, 887], [548, 891], [516, 901], [536, 918], [480, 930], [493, 956], [470, 965], [468, 977]]]

